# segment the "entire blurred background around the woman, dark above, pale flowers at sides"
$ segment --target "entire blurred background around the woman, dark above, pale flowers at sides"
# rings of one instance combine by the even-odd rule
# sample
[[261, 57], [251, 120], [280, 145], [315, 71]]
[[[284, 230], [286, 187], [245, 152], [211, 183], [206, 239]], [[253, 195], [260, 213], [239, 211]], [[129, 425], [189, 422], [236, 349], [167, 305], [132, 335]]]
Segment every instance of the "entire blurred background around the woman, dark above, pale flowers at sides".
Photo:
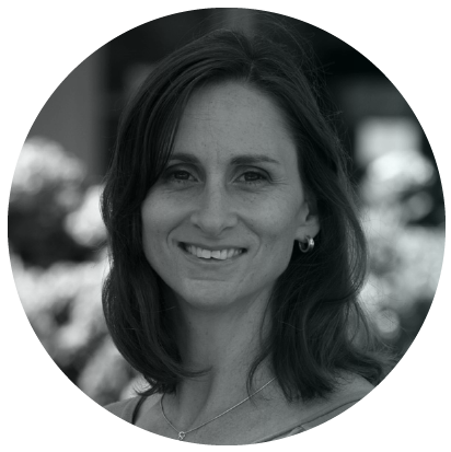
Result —
[[[278, 16], [280, 19], [280, 16]], [[426, 320], [444, 253], [444, 199], [427, 137], [406, 100], [366, 57], [327, 32], [285, 21], [310, 43], [354, 161], [370, 244], [361, 303], [400, 357]], [[9, 204], [9, 250], [28, 322], [61, 372], [103, 405], [142, 384], [102, 314], [108, 271], [99, 200], [122, 108], [167, 53], [221, 26], [253, 31], [255, 11], [204, 9], [137, 26], [83, 60], [31, 126]]]

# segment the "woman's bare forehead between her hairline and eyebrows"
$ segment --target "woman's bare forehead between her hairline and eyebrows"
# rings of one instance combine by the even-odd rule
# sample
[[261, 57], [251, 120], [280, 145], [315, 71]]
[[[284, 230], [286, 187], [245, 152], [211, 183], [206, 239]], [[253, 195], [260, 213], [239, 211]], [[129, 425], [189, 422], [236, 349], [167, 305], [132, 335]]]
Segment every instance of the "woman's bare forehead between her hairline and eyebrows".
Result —
[[275, 102], [256, 89], [227, 82], [196, 91], [182, 115], [174, 151], [266, 153], [281, 157], [296, 146]]

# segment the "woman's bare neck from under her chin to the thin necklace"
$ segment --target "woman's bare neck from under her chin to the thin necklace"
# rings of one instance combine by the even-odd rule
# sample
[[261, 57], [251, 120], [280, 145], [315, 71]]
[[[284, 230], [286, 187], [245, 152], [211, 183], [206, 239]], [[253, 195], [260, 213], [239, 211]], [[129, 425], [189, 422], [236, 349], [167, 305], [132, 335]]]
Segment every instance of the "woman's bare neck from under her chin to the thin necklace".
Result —
[[[176, 303], [174, 322], [182, 360], [187, 369], [206, 371], [185, 379], [176, 393], [165, 397], [167, 413], [178, 428], [187, 429], [208, 420], [247, 397], [250, 368], [261, 350], [266, 303], [243, 303], [228, 310], [199, 310]], [[273, 378], [263, 364], [255, 374], [253, 390]]]

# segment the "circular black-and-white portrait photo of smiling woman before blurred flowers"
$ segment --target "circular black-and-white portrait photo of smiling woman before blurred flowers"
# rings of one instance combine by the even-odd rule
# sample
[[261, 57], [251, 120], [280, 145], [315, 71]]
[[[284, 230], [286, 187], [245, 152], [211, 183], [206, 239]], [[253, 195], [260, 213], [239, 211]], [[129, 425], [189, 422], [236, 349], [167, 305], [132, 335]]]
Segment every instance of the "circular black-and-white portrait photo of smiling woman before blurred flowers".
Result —
[[352, 408], [407, 352], [444, 199], [415, 113], [358, 50], [193, 10], [113, 38], [50, 95], [9, 250], [36, 337], [105, 416], [258, 444]]

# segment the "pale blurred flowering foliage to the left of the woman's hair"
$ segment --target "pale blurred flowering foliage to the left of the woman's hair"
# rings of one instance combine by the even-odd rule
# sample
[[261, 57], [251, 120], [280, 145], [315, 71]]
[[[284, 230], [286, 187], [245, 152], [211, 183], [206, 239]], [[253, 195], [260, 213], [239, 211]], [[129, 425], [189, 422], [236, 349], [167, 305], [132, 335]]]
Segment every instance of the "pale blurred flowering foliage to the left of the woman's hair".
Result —
[[19, 298], [61, 372], [99, 404], [136, 376], [113, 345], [102, 313], [108, 270], [101, 186], [58, 143], [27, 140], [9, 202], [9, 250]]

